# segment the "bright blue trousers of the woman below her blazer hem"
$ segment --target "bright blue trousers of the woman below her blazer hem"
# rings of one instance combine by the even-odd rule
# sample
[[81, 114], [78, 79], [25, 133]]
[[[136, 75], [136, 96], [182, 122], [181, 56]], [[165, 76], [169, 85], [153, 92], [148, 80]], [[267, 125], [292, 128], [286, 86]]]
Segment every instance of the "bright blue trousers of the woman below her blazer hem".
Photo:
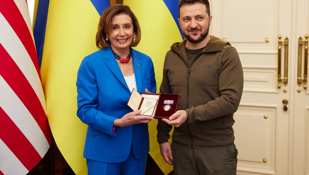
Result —
[[144, 175], [147, 155], [136, 159], [131, 146], [128, 158], [121, 163], [105, 163], [87, 159], [88, 175]]

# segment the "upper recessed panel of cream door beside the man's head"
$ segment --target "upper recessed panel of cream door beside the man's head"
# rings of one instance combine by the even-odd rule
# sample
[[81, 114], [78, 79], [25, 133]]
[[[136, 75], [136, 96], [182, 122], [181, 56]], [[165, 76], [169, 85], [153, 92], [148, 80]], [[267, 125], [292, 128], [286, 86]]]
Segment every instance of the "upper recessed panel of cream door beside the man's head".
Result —
[[[229, 4], [230, 3], [230, 4]], [[260, 16], [257, 15], [257, 13], [248, 13], [247, 9], [241, 9], [243, 11], [243, 14], [247, 14], [247, 17], [244, 18], [243, 23], [237, 25], [240, 27], [243, 31], [248, 31], [246, 29], [246, 21], [247, 20], [253, 20], [260, 22], [259, 24], [256, 24], [256, 27], [260, 27], [260, 29], [265, 29], [265, 23], [266, 24], [272, 24], [271, 28], [267, 28], [266, 30], [263, 30], [263, 33], [257, 32], [259, 29], [257, 29], [255, 26], [252, 26], [253, 31], [248, 31], [242, 37], [236, 37], [235, 35], [241, 35], [241, 31], [239, 31], [239, 28], [230, 28], [227, 26], [230, 26], [231, 23], [233, 23], [229, 16], [239, 16], [239, 9], [234, 9], [233, 11], [228, 8], [228, 6], [231, 5], [230, 1], [210, 1], [210, 10], [211, 15], [213, 15], [213, 20], [211, 24], [211, 35], [215, 35], [219, 38], [226, 38], [226, 41], [230, 42], [232, 46], [234, 46], [239, 54], [277, 54], [277, 42], [278, 42], [278, 27], [279, 27], [279, 20], [278, 20], [278, 8], [279, 8], [279, 1], [266, 1], [263, 2], [254, 2], [255, 5], [252, 6], [261, 6], [261, 8], [266, 7], [266, 11], [268, 13], [264, 13], [264, 15]], [[252, 2], [247, 2], [245, 0], [240, 0], [236, 2], [238, 4], [247, 4]], [[263, 6], [260, 4], [264, 4]], [[240, 6], [239, 6], [240, 8]], [[257, 7], [259, 8], [259, 7]], [[250, 9], [250, 8], [249, 8]], [[251, 15], [248, 17], [248, 14]], [[266, 18], [267, 16], [267, 18]], [[226, 17], [228, 17], [226, 19]], [[267, 19], [261, 20], [261, 19]], [[269, 26], [269, 25], [267, 25]], [[233, 26], [232, 26], [233, 27]], [[249, 29], [250, 30], [250, 29]], [[235, 32], [236, 33], [235, 33]], [[285, 36], [284, 36], [285, 37]], [[265, 42], [265, 38], [268, 39], [268, 42]]]

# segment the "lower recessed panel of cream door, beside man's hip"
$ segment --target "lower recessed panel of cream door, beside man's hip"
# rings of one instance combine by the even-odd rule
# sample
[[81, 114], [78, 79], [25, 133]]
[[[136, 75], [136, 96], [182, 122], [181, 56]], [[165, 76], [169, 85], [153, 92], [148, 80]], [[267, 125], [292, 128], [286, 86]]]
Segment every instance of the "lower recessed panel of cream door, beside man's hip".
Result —
[[[235, 112], [234, 117], [240, 117], [238, 119], [235, 119], [236, 122], [238, 120], [238, 123], [241, 123], [238, 127], [234, 127], [235, 134], [237, 134], [237, 131], [239, 127], [243, 126], [243, 122], [246, 122], [248, 118], [252, 120], [255, 120], [255, 123], [259, 123], [259, 127], [262, 127], [263, 130], [261, 133], [255, 132], [257, 127], [252, 127], [252, 130], [255, 134], [261, 134], [260, 138], [261, 141], [264, 142], [263, 145], [256, 146], [256, 151], [264, 152], [264, 155], [260, 157], [260, 160], [257, 160], [257, 155], [255, 152], [252, 152], [252, 157], [250, 159], [241, 159], [238, 158], [238, 171], [244, 171], [244, 172], [251, 172], [251, 173], [261, 173], [261, 174], [273, 174], [276, 175], [276, 135], [277, 135], [277, 109], [278, 105], [265, 105], [265, 103], [240, 103], [238, 110]], [[250, 115], [249, 115], [250, 114]], [[267, 118], [265, 118], [265, 115], [267, 115]], [[245, 118], [243, 118], [245, 116]], [[247, 118], [246, 118], [247, 116]], [[257, 118], [260, 117], [260, 118]], [[242, 118], [245, 121], [242, 121]], [[260, 120], [261, 119], [261, 120]], [[260, 126], [260, 124], [263, 124]], [[254, 122], [251, 123], [251, 125], [254, 125]], [[236, 123], [237, 126], [237, 123]], [[248, 128], [248, 126], [246, 127]], [[243, 129], [240, 129], [243, 130]], [[237, 144], [238, 139], [240, 138], [240, 143], [242, 147], [244, 147], [244, 144], [246, 143], [245, 140], [250, 134], [245, 135], [239, 135], [235, 142]], [[248, 140], [249, 141], [249, 140]], [[250, 141], [249, 141], [250, 142]], [[237, 145], [236, 145], [237, 146]], [[265, 147], [265, 148], [264, 148]], [[259, 149], [260, 148], [260, 149]], [[248, 153], [248, 149], [245, 150]], [[265, 157], [264, 157], [265, 156]], [[247, 157], [248, 158], [248, 157]], [[267, 164], [264, 164], [262, 162], [262, 158], [265, 158], [267, 160]]]

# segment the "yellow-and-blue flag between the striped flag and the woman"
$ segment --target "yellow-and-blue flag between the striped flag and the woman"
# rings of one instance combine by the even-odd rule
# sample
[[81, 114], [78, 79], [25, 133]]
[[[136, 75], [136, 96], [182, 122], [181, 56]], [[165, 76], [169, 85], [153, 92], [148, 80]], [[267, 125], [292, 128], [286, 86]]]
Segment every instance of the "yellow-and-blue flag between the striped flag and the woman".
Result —
[[110, 0], [50, 1], [45, 33], [44, 17], [38, 24], [41, 1], [48, 2], [36, 3], [34, 30], [41, 27], [37, 48], [44, 43], [40, 71], [49, 125], [57, 147], [75, 174], [86, 175], [83, 148], [87, 125], [76, 116], [76, 76], [82, 59], [98, 50], [95, 35], [99, 18]]

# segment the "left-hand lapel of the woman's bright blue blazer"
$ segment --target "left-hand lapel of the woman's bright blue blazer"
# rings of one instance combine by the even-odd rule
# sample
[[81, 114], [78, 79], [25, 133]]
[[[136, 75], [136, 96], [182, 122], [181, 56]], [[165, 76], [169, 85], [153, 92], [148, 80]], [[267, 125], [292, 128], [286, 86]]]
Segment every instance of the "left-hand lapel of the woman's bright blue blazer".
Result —
[[[127, 83], [125, 82], [125, 78], [123, 77], [119, 65], [116, 61], [116, 58], [111, 50], [110, 47], [105, 47], [104, 56], [102, 60], [104, 61], [105, 65], [112, 71], [112, 73], [118, 78], [118, 80], [129, 90]], [[130, 90], [129, 90], [130, 91]]]

